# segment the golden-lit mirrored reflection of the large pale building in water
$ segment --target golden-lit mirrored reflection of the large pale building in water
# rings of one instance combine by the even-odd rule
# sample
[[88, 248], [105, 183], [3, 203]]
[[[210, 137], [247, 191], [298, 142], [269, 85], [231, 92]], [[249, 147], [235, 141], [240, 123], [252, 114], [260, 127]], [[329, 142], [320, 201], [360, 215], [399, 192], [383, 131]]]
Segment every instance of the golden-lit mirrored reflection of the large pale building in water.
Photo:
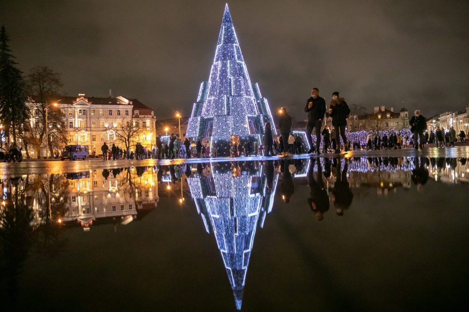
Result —
[[156, 175], [151, 166], [69, 173], [69, 204], [61, 222], [78, 221], [85, 231], [93, 222], [127, 225], [158, 205]]

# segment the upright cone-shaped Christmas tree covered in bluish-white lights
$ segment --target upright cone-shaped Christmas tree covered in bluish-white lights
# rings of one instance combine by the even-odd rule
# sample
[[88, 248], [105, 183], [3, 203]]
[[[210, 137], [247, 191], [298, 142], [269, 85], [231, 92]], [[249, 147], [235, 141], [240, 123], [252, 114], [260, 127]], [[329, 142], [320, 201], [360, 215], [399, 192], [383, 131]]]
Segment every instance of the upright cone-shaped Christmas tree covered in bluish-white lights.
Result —
[[268, 102], [249, 79], [227, 4], [209, 81], [200, 86], [186, 136], [210, 137], [211, 152], [215, 147], [217, 156], [229, 156], [233, 137], [260, 145], [266, 122], [276, 134]]

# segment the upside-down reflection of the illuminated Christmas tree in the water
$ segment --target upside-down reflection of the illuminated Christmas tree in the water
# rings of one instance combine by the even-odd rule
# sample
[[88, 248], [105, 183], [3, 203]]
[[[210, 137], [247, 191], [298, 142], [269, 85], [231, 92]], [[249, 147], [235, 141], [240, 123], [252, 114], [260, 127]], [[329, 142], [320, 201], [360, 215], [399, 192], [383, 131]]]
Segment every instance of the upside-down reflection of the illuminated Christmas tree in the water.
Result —
[[215, 235], [240, 310], [255, 232], [272, 210], [278, 174], [269, 161], [210, 165], [209, 171], [198, 164], [187, 181], [207, 233]]

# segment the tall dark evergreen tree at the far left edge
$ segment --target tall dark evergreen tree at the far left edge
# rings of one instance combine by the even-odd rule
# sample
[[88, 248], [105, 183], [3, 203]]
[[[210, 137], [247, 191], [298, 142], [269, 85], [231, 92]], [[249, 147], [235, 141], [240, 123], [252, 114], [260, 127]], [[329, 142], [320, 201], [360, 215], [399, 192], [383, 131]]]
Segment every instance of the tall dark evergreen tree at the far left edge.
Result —
[[5, 135], [13, 135], [16, 141], [17, 129], [28, 117], [25, 104], [24, 83], [21, 71], [16, 68], [14, 56], [9, 52], [8, 35], [5, 26], [0, 30], [0, 123], [5, 127]]

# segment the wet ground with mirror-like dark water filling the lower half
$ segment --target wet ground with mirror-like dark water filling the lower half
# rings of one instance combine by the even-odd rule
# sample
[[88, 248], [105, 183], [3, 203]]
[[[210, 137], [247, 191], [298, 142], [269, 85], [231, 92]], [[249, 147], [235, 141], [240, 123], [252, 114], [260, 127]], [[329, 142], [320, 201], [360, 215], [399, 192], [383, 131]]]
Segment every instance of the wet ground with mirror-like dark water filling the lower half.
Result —
[[469, 149], [2, 164], [17, 311], [461, 310]]

